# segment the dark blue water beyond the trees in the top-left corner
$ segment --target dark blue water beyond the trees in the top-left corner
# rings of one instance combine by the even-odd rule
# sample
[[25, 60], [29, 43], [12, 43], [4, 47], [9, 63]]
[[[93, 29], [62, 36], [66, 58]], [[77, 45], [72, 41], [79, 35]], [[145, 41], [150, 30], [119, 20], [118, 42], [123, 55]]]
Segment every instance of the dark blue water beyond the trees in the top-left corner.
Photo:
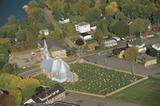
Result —
[[4, 25], [11, 15], [23, 19], [26, 14], [22, 7], [28, 2], [29, 0], [0, 0], [0, 26]]

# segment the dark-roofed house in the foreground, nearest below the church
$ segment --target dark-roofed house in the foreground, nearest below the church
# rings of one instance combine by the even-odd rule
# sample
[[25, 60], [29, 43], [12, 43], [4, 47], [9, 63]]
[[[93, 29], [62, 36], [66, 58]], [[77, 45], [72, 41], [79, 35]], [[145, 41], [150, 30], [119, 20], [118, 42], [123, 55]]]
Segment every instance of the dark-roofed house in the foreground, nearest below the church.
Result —
[[52, 104], [65, 98], [65, 89], [59, 84], [55, 84], [51, 88], [45, 88], [37, 92], [31, 99], [27, 100], [24, 105], [41, 103], [43, 105]]

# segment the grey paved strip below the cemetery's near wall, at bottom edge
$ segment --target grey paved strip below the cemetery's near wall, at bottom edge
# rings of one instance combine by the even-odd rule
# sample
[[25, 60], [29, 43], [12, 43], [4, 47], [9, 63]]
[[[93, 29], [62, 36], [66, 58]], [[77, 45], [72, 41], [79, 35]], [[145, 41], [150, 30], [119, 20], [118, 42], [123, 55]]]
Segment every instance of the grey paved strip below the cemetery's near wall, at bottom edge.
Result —
[[100, 98], [76, 93], [69, 93], [64, 101], [79, 104], [81, 106], [140, 106], [111, 98]]

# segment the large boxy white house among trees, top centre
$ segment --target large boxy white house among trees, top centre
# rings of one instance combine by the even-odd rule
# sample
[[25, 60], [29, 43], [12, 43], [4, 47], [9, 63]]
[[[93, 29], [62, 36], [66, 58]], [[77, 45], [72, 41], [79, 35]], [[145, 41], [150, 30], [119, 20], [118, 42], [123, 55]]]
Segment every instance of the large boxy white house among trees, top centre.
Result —
[[91, 31], [91, 26], [87, 22], [81, 22], [78, 24], [75, 24], [76, 31], [79, 33], [86, 33]]

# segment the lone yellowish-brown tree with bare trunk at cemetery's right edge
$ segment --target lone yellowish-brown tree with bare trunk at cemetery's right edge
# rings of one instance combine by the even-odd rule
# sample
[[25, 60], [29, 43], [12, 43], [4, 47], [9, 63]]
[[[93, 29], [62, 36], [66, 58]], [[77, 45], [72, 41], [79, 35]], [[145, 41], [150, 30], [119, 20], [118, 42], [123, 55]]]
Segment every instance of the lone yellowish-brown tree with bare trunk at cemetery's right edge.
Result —
[[132, 63], [132, 68], [131, 68], [131, 73], [134, 74], [134, 62], [135, 59], [138, 55], [138, 48], [137, 47], [131, 47], [128, 48], [125, 52], [124, 52], [124, 57], [126, 60], [130, 61]]

